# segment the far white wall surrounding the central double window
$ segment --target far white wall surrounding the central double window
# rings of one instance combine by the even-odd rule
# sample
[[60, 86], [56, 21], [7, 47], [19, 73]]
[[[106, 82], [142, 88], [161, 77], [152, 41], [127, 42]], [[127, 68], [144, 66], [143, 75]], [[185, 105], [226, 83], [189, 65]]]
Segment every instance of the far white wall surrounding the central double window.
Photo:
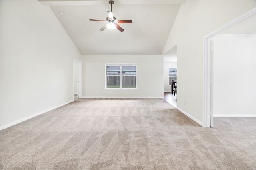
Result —
[[[137, 63], [138, 90], [106, 90], [105, 63]], [[163, 98], [163, 92], [162, 55], [82, 56], [83, 98]]]

